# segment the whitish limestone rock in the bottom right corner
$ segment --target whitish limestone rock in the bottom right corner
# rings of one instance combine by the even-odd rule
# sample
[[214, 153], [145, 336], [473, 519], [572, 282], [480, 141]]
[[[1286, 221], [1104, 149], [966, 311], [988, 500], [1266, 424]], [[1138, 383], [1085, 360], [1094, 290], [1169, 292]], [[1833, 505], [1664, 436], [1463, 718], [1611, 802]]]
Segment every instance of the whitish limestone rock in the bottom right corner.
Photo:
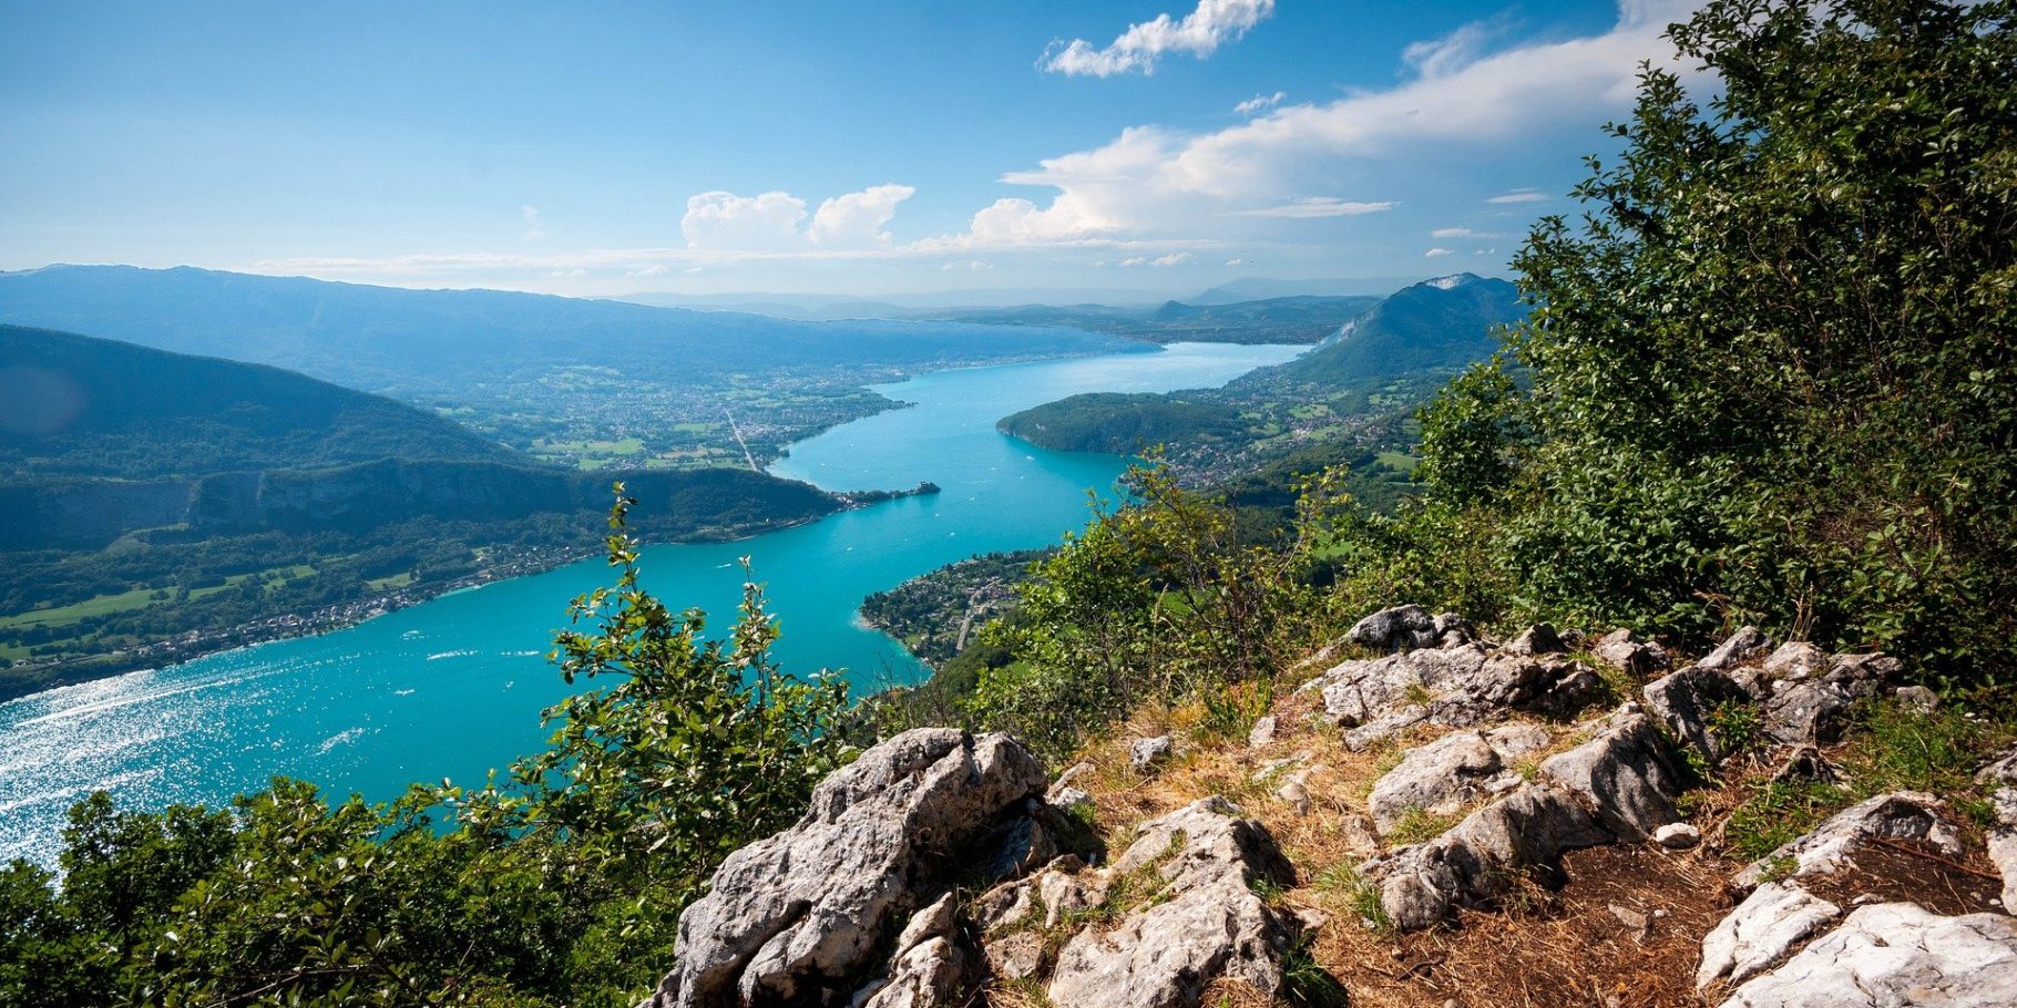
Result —
[[1912, 903], [1878, 903], [1737, 988], [1723, 1008], [2009, 1008], [2011, 992], [2017, 919], [1940, 917]]

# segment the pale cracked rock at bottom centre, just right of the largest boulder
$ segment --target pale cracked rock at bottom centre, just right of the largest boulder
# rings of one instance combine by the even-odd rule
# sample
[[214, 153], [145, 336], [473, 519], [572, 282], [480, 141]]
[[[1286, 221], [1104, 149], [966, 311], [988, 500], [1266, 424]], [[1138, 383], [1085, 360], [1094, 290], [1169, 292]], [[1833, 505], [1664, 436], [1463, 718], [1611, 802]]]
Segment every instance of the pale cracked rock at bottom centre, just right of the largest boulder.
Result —
[[1299, 921], [1251, 887], [1289, 879], [1259, 823], [1236, 818], [1224, 798], [1204, 798], [1144, 825], [1111, 871], [1154, 871], [1170, 899], [1128, 911], [1109, 931], [1087, 927], [1065, 941], [1051, 1004], [1194, 1008], [1220, 978], [1281, 992], [1281, 958]]

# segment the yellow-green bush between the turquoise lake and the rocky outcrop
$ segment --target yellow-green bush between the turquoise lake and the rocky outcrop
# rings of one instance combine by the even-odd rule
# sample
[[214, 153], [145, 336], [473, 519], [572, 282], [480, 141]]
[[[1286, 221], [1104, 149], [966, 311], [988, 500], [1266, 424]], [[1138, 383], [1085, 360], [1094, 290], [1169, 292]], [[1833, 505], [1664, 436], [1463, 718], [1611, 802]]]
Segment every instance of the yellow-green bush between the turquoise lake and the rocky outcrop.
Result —
[[974, 724], [1061, 756], [1144, 702], [1216, 704], [1224, 685], [1267, 681], [1335, 623], [1307, 577], [1345, 506], [1327, 482], [1281, 548], [1238, 544], [1232, 510], [1166, 468], [1136, 466], [1130, 482], [1138, 502], [1099, 510], [1017, 587], [1015, 615], [982, 631], [1013, 657], [978, 669]]

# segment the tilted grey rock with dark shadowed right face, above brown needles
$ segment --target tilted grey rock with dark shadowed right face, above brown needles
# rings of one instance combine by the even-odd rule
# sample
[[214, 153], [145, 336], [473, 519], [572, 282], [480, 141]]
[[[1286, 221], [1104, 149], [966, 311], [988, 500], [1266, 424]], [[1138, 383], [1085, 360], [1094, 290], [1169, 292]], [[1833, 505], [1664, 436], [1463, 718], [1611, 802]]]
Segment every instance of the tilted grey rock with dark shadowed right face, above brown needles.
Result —
[[1660, 730], [1638, 712], [1612, 716], [1597, 738], [1543, 762], [1541, 776], [1579, 794], [1620, 841], [1644, 841], [1680, 818], [1680, 778]]

